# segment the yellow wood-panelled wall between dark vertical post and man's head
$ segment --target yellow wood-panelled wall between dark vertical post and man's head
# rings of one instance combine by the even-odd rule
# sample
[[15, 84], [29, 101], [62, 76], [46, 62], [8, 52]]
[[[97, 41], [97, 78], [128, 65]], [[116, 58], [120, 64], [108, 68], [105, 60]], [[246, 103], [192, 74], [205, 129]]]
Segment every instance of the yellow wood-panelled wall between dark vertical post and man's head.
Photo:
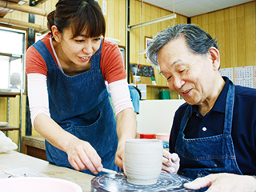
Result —
[[[169, 14], [173, 14], [173, 12], [152, 6], [145, 2], [142, 4], [141, 1], [138, 0], [130, 0], [130, 26], [155, 18], [161, 18]], [[159, 31], [166, 29], [168, 26], [182, 23], [187, 23], [187, 18], [177, 14], [177, 18], [175, 19], [130, 30], [130, 62], [150, 66], [150, 63], [146, 60], [145, 54], [138, 54], [139, 50], [146, 49], [145, 37], [153, 38], [155, 34], [158, 34]], [[167, 88], [166, 79], [162, 74], [159, 74], [157, 67], [154, 67], [154, 75], [158, 86], [162, 87], [147, 86], [147, 99], [158, 99], [160, 90], [169, 90]], [[174, 98], [178, 98], [178, 95], [175, 93]]]

